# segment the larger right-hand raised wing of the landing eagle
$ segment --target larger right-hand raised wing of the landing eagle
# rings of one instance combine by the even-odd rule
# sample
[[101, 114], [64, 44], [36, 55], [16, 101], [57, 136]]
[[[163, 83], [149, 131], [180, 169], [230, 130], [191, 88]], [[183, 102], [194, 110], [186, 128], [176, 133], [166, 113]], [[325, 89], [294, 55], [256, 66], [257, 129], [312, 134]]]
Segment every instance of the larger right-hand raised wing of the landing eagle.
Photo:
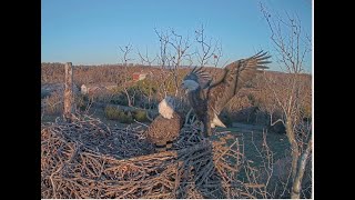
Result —
[[265, 64], [271, 63], [267, 59], [267, 52], [258, 53], [247, 59], [241, 59], [230, 63], [224, 68], [222, 76], [212, 82], [206, 89], [209, 106], [214, 109], [216, 114], [223, 110], [225, 104], [253, 79], [260, 69], [267, 69]]

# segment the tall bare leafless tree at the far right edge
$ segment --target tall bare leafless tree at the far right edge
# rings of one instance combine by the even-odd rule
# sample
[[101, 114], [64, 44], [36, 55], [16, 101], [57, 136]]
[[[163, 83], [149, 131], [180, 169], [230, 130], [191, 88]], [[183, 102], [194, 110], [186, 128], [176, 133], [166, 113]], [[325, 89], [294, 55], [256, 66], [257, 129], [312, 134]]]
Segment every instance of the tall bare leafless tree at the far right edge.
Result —
[[[291, 198], [300, 199], [301, 183], [305, 172], [305, 166], [310, 160], [312, 150], [311, 129], [298, 129], [303, 123], [304, 113], [302, 102], [306, 94], [303, 91], [311, 86], [304, 86], [304, 59], [311, 54], [311, 39], [302, 32], [301, 20], [297, 17], [286, 18], [271, 14], [263, 4], [261, 11], [271, 30], [271, 40], [275, 46], [278, 63], [287, 72], [283, 81], [267, 79], [267, 86], [282, 111], [282, 119], [286, 128], [286, 136], [291, 144]], [[280, 87], [275, 87], [275, 86]], [[277, 88], [282, 91], [277, 91]], [[311, 123], [308, 124], [311, 126]]]

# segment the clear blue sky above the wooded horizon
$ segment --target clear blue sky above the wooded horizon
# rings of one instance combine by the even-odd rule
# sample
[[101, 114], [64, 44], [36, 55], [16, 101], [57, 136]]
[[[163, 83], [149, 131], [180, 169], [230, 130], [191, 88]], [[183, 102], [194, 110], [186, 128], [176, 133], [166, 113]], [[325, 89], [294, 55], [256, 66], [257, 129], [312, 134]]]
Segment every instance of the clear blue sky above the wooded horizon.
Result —
[[[262, 0], [268, 10], [296, 13], [304, 32], [312, 32], [312, 0]], [[260, 11], [260, 0], [42, 0], [42, 62], [73, 64], [119, 63], [119, 46], [159, 51], [154, 32], [174, 29], [194, 39], [203, 23], [205, 34], [222, 43], [221, 63], [273, 51], [270, 30]], [[192, 51], [194, 49], [191, 49]], [[196, 63], [196, 62], [195, 62]], [[278, 70], [277, 64], [272, 66]], [[311, 56], [305, 69], [311, 72]]]

